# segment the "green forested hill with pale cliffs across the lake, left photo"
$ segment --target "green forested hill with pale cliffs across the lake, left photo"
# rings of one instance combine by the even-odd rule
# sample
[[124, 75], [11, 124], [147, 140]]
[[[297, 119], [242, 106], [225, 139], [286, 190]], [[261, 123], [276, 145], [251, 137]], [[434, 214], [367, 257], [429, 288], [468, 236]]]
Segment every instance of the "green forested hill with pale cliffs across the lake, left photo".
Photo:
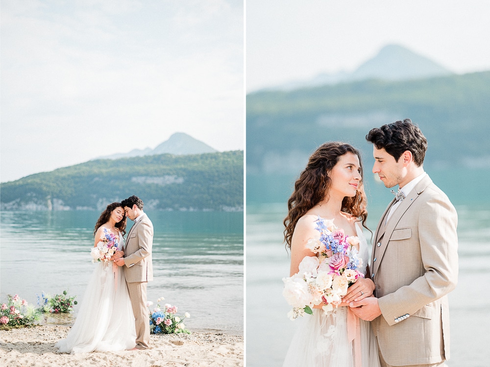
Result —
[[97, 209], [139, 196], [145, 208], [243, 210], [244, 152], [96, 160], [1, 184], [8, 209]]

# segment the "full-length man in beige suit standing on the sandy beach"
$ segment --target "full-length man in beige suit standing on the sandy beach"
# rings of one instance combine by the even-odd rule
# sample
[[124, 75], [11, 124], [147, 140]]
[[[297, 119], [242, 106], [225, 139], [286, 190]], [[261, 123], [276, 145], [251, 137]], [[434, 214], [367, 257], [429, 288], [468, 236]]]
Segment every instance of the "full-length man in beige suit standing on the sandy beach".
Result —
[[126, 216], [134, 221], [127, 235], [124, 257], [114, 262], [124, 268], [129, 298], [135, 318], [136, 347], [147, 349], [150, 328], [147, 310], [147, 282], [153, 280], [151, 246], [153, 245], [153, 224], [143, 212], [143, 202], [131, 196], [121, 202]]

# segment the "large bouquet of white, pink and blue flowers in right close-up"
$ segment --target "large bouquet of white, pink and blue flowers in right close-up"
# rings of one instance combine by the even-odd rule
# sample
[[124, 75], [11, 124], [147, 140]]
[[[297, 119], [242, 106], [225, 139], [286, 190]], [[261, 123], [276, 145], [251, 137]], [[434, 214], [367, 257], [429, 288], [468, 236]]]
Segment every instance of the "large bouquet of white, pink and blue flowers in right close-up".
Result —
[[299, 264], [299, 272], [283, 278], [283, 296], [293, 309], [288, 313], [291, 320], [305, 313], [313, 314], [312, 307], [324, 303], [325, 313], [342, 302], [347, 288], [359, 277], [362, 259], [355, 248], [357, 236], [346, 236], [333, 220], [317, 219], [319, 239], [310, 239], [306, 245], [316, 256], [305, 256]]

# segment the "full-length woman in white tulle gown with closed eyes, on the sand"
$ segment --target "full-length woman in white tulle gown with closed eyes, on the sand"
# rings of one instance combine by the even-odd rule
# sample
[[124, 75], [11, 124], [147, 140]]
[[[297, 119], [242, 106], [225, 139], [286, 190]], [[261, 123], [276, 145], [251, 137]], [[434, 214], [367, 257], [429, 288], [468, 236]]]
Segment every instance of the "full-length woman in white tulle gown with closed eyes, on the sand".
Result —
[[[95, 226], [94, 247], [108, 234], [115, 237], [118, 250], [122, 250], [125, 228], [123, 206], [121, 203], [109, 204]], [[105, 352], [131, 349], [136, 345], [134, 316], [124, 273], [112, 261], [122, 253], [117, 251], [110, 261], [95, 264], [75, 323], [67, 338], [55, 344], [60, 352]]]

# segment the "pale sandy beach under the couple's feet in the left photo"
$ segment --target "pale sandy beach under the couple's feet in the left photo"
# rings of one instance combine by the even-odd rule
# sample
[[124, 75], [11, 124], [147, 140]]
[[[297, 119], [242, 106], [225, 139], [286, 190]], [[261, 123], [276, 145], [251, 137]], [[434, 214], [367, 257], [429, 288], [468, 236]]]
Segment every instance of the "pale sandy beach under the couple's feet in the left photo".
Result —
[[69, 326], [48, 325], [0, 331], [0, 365], [4, 367], [97, 366], [244, 366], [243, 336], [221, 333], [151, 335], [145, 351], [58, 353], [54, 344]]

